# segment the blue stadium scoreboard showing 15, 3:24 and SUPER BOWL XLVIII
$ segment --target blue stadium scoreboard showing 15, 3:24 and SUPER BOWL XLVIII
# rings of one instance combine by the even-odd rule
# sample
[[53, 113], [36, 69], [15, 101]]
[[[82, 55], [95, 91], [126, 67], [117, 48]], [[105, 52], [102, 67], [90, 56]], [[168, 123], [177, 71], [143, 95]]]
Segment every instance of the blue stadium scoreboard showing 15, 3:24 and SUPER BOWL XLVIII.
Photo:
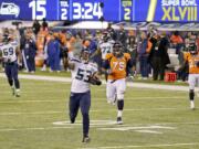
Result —
[[1, 0], [0, 20], [198, 22], [199, 0]]

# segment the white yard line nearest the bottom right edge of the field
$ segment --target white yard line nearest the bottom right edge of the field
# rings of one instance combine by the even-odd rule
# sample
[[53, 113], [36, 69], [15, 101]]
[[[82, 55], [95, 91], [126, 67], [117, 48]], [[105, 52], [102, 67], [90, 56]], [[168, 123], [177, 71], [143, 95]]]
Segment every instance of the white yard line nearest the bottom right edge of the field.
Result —
[[88, 147], [78, 149], [126, 149], [126, 148], [158, 148], [158, 147], [184, 147], [184, 146], [199, 146], [199, 142], [188, 143], [161, 143], [161, 145], [144, 145], [144, 146], [113, 146], [113, 147]]

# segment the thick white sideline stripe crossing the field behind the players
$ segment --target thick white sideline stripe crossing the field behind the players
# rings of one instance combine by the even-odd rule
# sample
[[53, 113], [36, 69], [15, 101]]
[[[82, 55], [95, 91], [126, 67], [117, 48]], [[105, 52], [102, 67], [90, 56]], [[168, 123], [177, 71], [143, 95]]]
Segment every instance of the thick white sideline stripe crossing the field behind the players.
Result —
[[[0, 77], [6, 77], [4, 74], [0, 73]], [[71, 83], [70, 77], [54, 77], [54, 76], [39, 76], [39, 75], [19, 75], [20, 78], [23, 79], [34, 79], [34, 81], [49, 81], [49, 82], [62, 82], [62, 83]], [[105, 84], [105, 82], [103, 82]], [[159, 85], [159, 84], [147, 84], [147, 83], [132, 83], [128, 82], [127, 86], [136, 87], [136, 88], [150, 88], [150, 89], [167, 89], [167, 91], [189, 91], [188, 86], [177, 86], [177, 85]]]

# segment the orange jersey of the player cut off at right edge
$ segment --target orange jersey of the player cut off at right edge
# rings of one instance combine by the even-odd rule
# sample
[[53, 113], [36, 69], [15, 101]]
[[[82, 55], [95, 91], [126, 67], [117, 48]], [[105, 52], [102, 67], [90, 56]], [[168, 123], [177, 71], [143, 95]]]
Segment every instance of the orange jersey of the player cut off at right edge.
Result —
[[189, 64], [189, 73], [190, 74], [199, 74], [199, 67], [197, 63], [199, 63], [199, 54], [191, 55], [189, 52], [185, 53], [185, 60], [188, 61]]

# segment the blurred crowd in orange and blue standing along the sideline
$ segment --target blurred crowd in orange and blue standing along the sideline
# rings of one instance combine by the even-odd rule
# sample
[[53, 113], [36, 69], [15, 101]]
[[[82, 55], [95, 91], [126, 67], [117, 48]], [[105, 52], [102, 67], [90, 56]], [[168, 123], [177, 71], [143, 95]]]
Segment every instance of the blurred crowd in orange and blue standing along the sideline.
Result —
[[119, 30], [114, 30], [112, 23], [105, 30], [53, 30], [43, 19], [42, 23], [35, 20], [32, 28], [3, 28], [0, 43], [4, 34], [19, 43], [23, 57], [21, 70], [30, 73], [35, 72], [35, 65], [41, 66], [41, 71], [67, 71], [66, 58], [80, 58], [82, 49], [88, 49], [91, 61], [101, 65], [102, 53], [97, 53], [101, 44], [119, 41], [124, 52], [129, 53], [135, 61], [136, 73], [140, 74], [142, 79], [151, 76], [154, 81], [163, 81], [165, 72], [170, 70], [178, 74], [179, 79], [186, 81], [187, 71], [175, 68], [169, 54], [175, 54], [180, 65], [190, 43], [199, 47], [197, 32], [160, 32], [153, 26], [147, 31], [125, 30], [123, 24]]

